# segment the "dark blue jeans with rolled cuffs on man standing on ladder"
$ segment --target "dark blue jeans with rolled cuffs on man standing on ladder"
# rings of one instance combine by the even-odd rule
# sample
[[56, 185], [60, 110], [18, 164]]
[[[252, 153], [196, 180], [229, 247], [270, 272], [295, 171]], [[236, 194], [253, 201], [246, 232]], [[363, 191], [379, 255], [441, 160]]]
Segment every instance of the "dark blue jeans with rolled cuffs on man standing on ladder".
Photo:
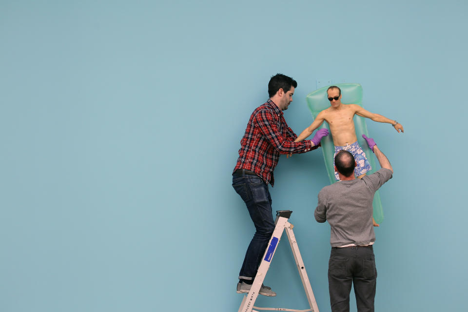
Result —
[[244, 200], [254, 221], [255, 234], [245, 253], [239, 279], [253, 280], [274, 230], [272, 197], [268, 185], [258, 176], [233, 176], [233, 187]]

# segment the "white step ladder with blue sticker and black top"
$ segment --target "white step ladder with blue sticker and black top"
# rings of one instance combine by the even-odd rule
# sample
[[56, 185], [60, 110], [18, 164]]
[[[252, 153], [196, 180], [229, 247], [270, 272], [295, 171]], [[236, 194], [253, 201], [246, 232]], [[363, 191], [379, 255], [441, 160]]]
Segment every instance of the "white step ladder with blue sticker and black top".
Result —
[[[302, 261], [301, 253], [299, 252], [299, 247], [297, 246], [296, 238], [294, 237], [294, 233], [292, 232], [292, 228], [294, 226], [288, 222], [288, 219], [291, 216], [291, 214], [291, 210], [276, 211], [276, 219], [274, 220], [275, 227], [272, 238], [268, 243], [268, 247], [265, 251], [265, 254], [263, 255], [262, 262], [258, 267], [258, 271], [255, 275], [254, 283], [252, 284], [250, 292], [247, 295], [244, 295], [238, 312], [258, 312], [253, 309], [291, 312], [319, 312], [317, 302], [315, 301], [315, 297], [313, 296], [311, 282], [309, 281], [309, 277], [307, 276], [306, 268], [304, 267], [304, 262]], [[281, 239], [281, 234], [283, 234], [283, 230], [286, 230], [286, 234], [288, 235], [288, 240], [289, 244], [291, 245], [292, 254], [294, 255], [297, 270], [299, 271], [299, 275], [301, 276], [302, 285], [304, 286], [304, 290], [306, 291], [307, 300], [309, 301], [311, 309], [292, 310], [284, 308], [259, 308], [254, 306], [255, 300], [258, 297], [258, 292], [260, 291], [260, 287], [262, 286], [263, 280], [265, 279], [265, 275], [267, 274], [267, 271], [270, 268], [270, 263], [272, 261], [274, 252], [276, 251], [276, 247], [278, 246], [278, 243]]]

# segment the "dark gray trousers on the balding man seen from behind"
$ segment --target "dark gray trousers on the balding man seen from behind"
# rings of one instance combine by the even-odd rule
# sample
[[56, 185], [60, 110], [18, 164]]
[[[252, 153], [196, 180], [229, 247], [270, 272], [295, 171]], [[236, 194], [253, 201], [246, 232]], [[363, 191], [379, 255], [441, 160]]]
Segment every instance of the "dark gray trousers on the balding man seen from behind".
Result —
[[328, 285], [332, 312], [350, 311], [351, 284], [358, 312], [373, 312], [377, 270], [372, 246], [331, 248]]

